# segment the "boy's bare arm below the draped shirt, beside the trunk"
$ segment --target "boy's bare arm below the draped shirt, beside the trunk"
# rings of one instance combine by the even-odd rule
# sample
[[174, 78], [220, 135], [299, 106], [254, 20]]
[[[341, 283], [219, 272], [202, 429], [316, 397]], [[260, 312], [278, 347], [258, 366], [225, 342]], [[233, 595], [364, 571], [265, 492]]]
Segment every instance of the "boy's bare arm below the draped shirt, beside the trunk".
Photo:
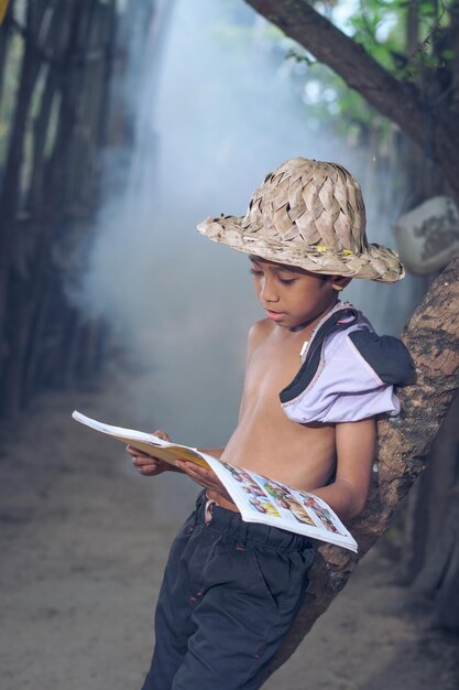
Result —
[[370, 490], [371, 472], [376, 454], [375, 419], [336, 425], [337, 471], [332, 484], [313, 494], [328, 503], [342, 519], [361, 513]]

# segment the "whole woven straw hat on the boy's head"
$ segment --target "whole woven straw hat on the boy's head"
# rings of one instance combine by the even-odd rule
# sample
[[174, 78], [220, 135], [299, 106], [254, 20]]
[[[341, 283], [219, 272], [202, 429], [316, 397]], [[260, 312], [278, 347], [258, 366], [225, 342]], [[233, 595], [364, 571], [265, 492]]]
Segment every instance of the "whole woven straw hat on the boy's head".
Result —
[[381, 282], [405, 274], [394, 251], [368, 242], [360, 186], [337, 163], [285, 161], [255, 190], [245, 216], [209, 217], [198, 230], [232, 249], [314, 273]]

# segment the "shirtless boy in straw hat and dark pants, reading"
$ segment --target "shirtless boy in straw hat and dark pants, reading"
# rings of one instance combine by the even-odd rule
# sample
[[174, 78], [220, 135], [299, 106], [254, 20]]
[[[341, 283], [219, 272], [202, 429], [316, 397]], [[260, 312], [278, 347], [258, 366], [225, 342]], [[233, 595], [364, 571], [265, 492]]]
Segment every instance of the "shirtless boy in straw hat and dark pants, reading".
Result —
[[[403, 345], [379, 338], [338, 301], [352, 278], [403, 278], [394, 252], [368, 244], [364, 224], [360, 187], [345, 169], [292, 159], [265, 177], [244, 218], [198, 226], [249, 254], [266, 313], [249, 334], [238, 427], [225, 448], [206, 452], [314, 492], [345, 520], [365, 504], [374, 416], [398, 412], [393, 385], [411, 374]], [[142, 474], [171, 468], [128, 450]], [[179, 471], [205, 492], [171, 550], [143, 690], [254, 690], [302, 604], [314, 545], [242, 522], [212, 472], [186, 462]]]

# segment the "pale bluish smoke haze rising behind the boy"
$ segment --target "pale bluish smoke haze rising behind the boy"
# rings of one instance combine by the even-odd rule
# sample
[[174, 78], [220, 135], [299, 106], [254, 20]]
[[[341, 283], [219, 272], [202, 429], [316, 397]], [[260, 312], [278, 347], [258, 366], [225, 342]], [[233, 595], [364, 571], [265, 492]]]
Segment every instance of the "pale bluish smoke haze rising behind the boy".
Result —
[[[171, 7], [161, 48], [151, 42], [133, 173], [100, 212], [84, 299], [142, 367], [118, 421], [221, 445], [237, 422], [247, 332], [263, 312], [247, 257], [197, 235], [197, 223], [244, 214], [270, 170], [305, 155], [350, 169], [362, 181], [371, 240], [394, 242], [365, 188], [368, 155], [308, 120], [264, 21], [240, 0]], [[402, 326], [413, 291], [353, 281], [345, 297], [389, 332]]]

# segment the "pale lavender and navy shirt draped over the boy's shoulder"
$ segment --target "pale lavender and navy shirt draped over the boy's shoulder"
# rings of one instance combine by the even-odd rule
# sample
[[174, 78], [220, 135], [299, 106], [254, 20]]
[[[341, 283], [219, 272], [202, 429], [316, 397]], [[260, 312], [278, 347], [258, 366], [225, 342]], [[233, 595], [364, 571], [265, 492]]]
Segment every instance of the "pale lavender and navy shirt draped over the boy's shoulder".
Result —
[[305, 343], [303, 364], [280, 399], [287, 417], [300, 423], [397, 414], [393, 386], [412, 376], [403, 343], [379, 336], [360, 311], [339, 303]]

